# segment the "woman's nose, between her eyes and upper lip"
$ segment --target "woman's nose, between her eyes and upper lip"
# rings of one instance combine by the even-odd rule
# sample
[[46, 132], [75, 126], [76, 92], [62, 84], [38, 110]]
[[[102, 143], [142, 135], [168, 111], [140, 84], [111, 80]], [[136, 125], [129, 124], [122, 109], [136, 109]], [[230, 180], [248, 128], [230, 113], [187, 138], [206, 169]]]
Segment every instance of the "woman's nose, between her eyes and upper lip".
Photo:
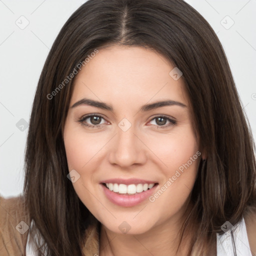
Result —
[[144, 164], [147, 159], [147, 147], [145, 142], [143, 143], [141, 134], [135, 132], [133, 125], [126, 131], [117, 127], [116, 133], [110, 146], [109, 162], [122, 168], [133, 164]]

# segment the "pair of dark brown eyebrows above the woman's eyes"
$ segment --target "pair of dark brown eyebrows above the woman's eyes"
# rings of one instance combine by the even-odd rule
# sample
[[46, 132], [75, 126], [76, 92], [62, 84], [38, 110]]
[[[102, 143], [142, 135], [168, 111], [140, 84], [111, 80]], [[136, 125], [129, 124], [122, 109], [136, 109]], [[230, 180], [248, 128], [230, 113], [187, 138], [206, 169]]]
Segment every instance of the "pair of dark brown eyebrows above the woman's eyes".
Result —
[[[71, 108], [76, 107], [78, 105], [90, 105], [90, 106], [95, 106], [95, 107], [98, 107], [98, 108], [101, 108], [101, 109], [113, 111], [113, 107], [111, 105], [108, 105], [104, 102], [89, 99], [89, 98], [82, 98], [82, 99], [78, 100], [77, 102], [75, 102], [71, 106]], [[156, 102], [151, 103], [151, 104], [142, 105], [141, 108], [140, 108], [140, 111], [145, 112], [145, 111], [149, 111], [149, 110], [161, 107], [161, 106], [172, 106], [172, 105], [186, 107], [185, 104], [183, 104], [181, 102], [178, 102], [178, 101], [175, 101], [175, 100], [163, 100], [163, 101], [156, 101]]]

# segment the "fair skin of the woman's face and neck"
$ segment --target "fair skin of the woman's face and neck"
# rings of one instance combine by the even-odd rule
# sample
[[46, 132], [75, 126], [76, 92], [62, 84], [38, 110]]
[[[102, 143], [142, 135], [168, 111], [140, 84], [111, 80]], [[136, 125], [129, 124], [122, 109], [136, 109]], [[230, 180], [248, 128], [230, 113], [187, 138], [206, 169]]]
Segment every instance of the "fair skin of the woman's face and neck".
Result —
[[[203, 154], [154, 202], [146, 199], [135, 206], [118, 206], [107, 199], [99, 184], [108, 178], [135, 177], [156, 180], [157, 191], [200, 151], [182, 77], [174, 80], [169, 75], [173, 67], [152, 50], [111, 46], [99, 49], [75, 76], [63, 138], [68, 169], [80, 175], [73, 187], [102, 224], [100, 255], [175, 255], [182, 214]], [[84, 97], [110, 104], [113, 111], [85, 104], [71, 107]], [[186, 107], [168, 105], [139, 111], [143, 104], [167, 99]], [[78, 122], [91, 113], [103, 116], [99, 128]], [[176, 124], [168, 126], [170, 122], [163, 119], [161, 126], [154, 118], [160, 115], [176, 120]], [[131, 123], [125, 132], [118, 126], [123, 118]], [[91, 118], [83, 120], [92, 122]], [[131, 227], [126, 234], [118, 228], [123, 221]], [[186, 255], [186, 249], [187, 242], [178, 255]]]

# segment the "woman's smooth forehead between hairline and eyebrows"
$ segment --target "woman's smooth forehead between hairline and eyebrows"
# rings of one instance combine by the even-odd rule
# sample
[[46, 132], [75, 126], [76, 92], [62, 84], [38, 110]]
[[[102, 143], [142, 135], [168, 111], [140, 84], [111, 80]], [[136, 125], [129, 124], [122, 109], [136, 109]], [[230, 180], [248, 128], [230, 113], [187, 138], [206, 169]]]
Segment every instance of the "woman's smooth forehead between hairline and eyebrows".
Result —
[[148, 48], [100, 48], [75, 76], [70, 103], [86, 96], [111, 104], [117, 101], [146, 103], [158, 99], [188, 104], [182, 76], [175, 80], [170, 75], [173, 68], [163, 55]]

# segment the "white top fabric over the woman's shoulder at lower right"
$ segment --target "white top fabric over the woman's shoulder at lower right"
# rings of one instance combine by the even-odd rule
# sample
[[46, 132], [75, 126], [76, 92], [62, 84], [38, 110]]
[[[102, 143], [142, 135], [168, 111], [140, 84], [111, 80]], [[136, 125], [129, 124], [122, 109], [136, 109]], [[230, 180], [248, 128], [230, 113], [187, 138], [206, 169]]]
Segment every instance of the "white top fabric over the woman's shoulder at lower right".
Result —
[[235, 226], [232, 226], [228, 221], [226, 221], [222, 226], [222, 230], [225, 233], [219, 235], [217, 234], [217, 256], [234, 256], [231, 230], [233, 231], [233, 239], [236, 248], [237, 256], [252, 256], [248, 241], [248, 236], [246, 232], [246, 226], [244, 218], [241, 219]]

